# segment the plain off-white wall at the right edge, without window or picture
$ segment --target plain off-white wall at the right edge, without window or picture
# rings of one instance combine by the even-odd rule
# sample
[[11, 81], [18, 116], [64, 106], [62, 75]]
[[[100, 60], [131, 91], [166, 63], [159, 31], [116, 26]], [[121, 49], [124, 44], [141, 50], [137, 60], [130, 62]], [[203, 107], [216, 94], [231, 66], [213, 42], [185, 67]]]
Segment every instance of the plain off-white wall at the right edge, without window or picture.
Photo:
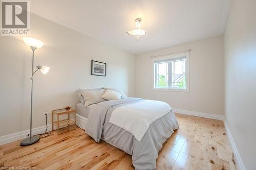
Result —
[[245, 168], [256, 169], [256, 1], [233, 0], [225, 29], [225, 118]]

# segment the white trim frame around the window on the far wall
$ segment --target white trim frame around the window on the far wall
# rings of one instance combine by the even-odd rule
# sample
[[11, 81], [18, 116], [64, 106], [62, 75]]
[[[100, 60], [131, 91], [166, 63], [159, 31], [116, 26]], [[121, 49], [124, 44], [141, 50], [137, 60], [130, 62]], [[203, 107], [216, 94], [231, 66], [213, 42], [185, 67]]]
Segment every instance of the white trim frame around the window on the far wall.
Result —
[[[179, 59], [181, 57], [186, 56], [186, 89], [181, 88], [155, 88], [155, 61], [161, 61], [161, 60], [175, 60]], [[152, 90], [154, 91], [177, 91], [177, 92], [189, 92], [189, 52], [186, 53], [178, 53], [178, 54], [167, 54], [162, 55], [159, 57], [152, 58]]]

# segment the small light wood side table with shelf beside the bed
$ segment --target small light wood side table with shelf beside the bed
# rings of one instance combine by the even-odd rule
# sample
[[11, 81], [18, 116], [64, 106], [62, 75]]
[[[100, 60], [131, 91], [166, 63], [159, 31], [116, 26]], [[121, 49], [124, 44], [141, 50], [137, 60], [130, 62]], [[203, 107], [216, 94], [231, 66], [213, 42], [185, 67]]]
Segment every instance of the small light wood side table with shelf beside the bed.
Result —
[[[74, 114], [74, 120], [70, 119], [70, 116], [69, 114], [70, 113], [73, 113]], [[53, 120], [53, 115], [57, 115], [57, 121], [54, 122]], [[62, 114], [68, 114], [68, 118], [67, 119], [64, 119], [64, 120], [59, 120], [59, 115], [62, 115]], [[65, 125], [70, 125], [70, 124], [75, 124], [76, 125], [76, 109], [57, 109], [57, 110], [53, 110], [52, 111], [52, 131], [53, 131], [53, 126], [57, 126], [57, 130], [58, 130], [58, 134], [59, 134], [59, 128], [62, 127], [62, 126], [65, 126]]]

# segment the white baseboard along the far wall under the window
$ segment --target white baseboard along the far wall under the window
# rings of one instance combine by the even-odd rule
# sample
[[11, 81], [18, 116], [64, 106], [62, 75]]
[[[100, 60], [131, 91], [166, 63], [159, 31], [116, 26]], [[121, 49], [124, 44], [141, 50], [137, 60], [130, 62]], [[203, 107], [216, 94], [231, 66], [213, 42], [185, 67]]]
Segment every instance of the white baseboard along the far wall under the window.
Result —
[[173, 111], [175, 113], [187, 114], [187, 115], [191, 115], [191, 116], [223, 120], [223, 115], [219, 115], [219, 114], [210, 114], [210, 113], [203, 113], [203, 112], [198, 112], [198, 111], [190, 111], [190, 110], [182, 110], [182, 109], [173, 109]]

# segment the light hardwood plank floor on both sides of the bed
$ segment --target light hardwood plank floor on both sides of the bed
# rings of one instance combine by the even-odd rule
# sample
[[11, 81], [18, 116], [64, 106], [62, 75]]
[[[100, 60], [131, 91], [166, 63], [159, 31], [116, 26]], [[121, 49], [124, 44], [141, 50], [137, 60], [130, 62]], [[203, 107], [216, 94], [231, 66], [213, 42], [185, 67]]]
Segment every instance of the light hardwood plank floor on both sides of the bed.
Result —
[[[179, 129], [166, 140], [157, 169], [236, 169], [223, 122], [176, 114]], [[134, 169], [130, 155], [101, 141], [95, 142], [80, 128], [54, 131], [26, 147], [19, 141], [0, 146], [1, 169], [12, 166], [34, 169]]]

